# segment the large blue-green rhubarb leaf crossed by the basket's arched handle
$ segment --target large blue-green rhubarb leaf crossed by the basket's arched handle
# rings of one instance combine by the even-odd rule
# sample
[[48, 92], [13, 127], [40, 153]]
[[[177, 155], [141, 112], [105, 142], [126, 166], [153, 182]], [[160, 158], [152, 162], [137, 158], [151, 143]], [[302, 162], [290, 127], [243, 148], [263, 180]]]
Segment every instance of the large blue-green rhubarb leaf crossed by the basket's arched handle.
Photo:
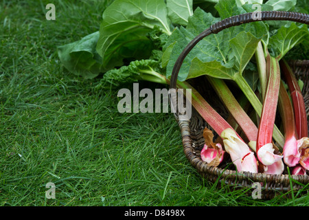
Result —
[[[220, 19], [198, 8], [189, 18], [186, 28], [174, 30], [168, 43], [163, 47], [162, 65], [164, 67], [164, 64], [168, 63], [167, 76], [172, 73], [179, 54], [195, 36], [221, 19], [247, 12], [244, 8], [238, 7], [235, 1], [229, 0], [220, 1], [216, 5], [216, 10], [220, 14]], [[258, 42], [266, 32], [267, 28], [264, 23], [255, 22], [228, 28], [218, 34], [205, 37], [183, 61], [178, 79], [182, 81], [201, 74], [209, 74], [218, 78], [234, 78], [234, 74], [242, 73], [254, 54]]]

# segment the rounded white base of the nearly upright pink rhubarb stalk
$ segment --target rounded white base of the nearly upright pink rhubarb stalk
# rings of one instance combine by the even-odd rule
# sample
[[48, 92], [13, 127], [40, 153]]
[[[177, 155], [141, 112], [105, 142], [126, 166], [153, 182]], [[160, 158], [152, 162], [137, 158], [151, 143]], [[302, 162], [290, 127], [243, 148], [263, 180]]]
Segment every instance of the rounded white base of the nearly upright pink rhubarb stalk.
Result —
[[260, 147], [258, 151], [258, 159], [262, 164], [265, 166], [270, 166], [279, 160], [282, 160], [282, 155], [277, 155], [273, 153], [275, 149], [273, 148], [272, 143], [265, 144], [264, 146]]

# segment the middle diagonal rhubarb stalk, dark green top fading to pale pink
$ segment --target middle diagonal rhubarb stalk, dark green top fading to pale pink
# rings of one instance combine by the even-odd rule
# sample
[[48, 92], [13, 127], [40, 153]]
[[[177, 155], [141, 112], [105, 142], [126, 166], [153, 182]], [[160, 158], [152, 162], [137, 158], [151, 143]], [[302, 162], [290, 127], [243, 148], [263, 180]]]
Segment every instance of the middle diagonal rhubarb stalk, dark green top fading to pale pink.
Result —
[[207, 79], [215, 89], [216, 93], [227, 107], [229, 113], [233, 115], [237, 124], [240, 126], [249, 141], [256, 141], [258, 136], [258, 127], [253, 123], [251, 118], [242, 109], [236, 98], [233, 96], [229, 87], [224, 80], [207, 76]]

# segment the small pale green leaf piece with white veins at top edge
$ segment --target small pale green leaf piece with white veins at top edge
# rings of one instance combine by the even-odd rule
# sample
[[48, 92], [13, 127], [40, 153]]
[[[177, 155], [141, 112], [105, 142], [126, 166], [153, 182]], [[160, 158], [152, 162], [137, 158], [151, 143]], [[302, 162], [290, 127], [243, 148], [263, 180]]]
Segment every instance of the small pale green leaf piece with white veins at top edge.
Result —
[[172, 23], [187, 25], [187, 19], [192, 16], [192, 0], [167, 0], [168, 17]]

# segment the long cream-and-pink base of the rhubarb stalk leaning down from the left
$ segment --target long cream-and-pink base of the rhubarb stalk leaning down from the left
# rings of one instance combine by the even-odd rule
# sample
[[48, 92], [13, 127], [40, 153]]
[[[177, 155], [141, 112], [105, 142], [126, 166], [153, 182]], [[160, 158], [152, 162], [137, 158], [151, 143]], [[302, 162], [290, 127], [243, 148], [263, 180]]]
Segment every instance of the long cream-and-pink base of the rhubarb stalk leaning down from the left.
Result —
[[258, 173], [258, 162], [249, 146], [244, 143], [233, 129], [225, 129], [221, 135], [225, 151], [229, 153], [238, 171]]

